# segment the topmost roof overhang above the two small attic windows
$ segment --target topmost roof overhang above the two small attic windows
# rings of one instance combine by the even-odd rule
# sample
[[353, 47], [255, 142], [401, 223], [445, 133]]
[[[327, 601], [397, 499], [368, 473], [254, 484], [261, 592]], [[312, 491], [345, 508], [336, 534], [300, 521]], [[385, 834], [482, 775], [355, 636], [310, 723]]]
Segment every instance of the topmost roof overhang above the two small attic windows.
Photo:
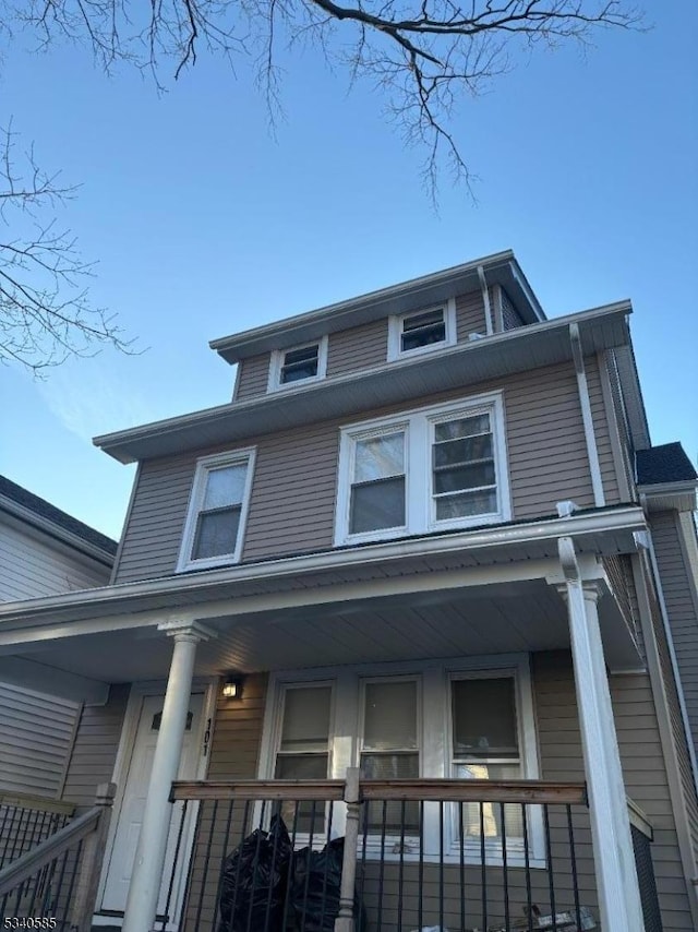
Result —
[[212, 340], [209, 346], [232, 365], [272, 349], [318, 339], [327, 333], [372, 323], [389, 314], [409, 313], [457, 295], [478, 291], [481, 288], [479, 268], [484, 273], [488, 285], [501, 285], [506, 289], [525, 323], [545, 320], [514, 253], [506, 250], [277, 323], [224, 336]]

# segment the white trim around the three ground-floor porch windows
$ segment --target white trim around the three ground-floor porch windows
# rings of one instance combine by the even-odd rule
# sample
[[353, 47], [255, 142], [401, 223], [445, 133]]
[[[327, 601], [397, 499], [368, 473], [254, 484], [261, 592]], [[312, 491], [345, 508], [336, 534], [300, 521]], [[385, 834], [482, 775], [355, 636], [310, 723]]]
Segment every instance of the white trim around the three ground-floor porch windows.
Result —
[[[276, 749], [281, 729], [281, 695], [289, 685], [333, 685], [330, 706], [330, 748], [328, 755], [328, 775], [334, 779], [344, 779], [349, 766], [359, 766], [361, 757], [361, 732], [363, 712], [363, 691], [366, 682], [387, 680], [418, 680], [418, 736], [420, 778], [452, 777], [453, 749], [450, 745], [452, 706], [450, 682], [470, 676], [494, 676], [496, 673], [515, 677], [517, 719], [519, 727], [520, 760], [524, 779], [538, 779], [540, 765], [538, 756], [538, 734], [533, 705], [530, 658], [528, 654], [500, 654], [494, 656], [446, 658], [422, 660], [419, 662], [361, 664], [342, 667], [325, 667], [314, 670], [284, 670], [273, 672], [266, 694], [262, 743], [260, 749], [258, 779], [273, 779]], [[460, 848], [457, 839], [455, 805], [448, 804], [452, 812], [445, 817], [444, 862], [457, 863]], [[430, 804], [425, 805], [425, 814]], [[438, 859], [437, 804], [431, 805], [432, 817], [425, 819], [424, 860]], [[531, 806], [529, 813], [529, 864], [531, 868], [545, 867], [545, 844], [542, 810]], [[435, 816], [435, 817], [433, 817]], [[344, 834], [344, 808], [336, 805], [333, 817], [333, 836]], [[395, 840], [395, 839], [393, 839]], [[370, 840], [366, 851], [378, 852]], [[480, 846], [465, 848], [466, 861], [479, 862]], [[397, 860], [398, 853], [387, 850], [386, 860]], [[404, 853], [406, 861], [416, 856]], [[502, 856], [496, 850], [486, 852], [488, 864], [502, 864]], [[524, 863], [516, 849], [507, 846], [507, 862], [518, 867]]]

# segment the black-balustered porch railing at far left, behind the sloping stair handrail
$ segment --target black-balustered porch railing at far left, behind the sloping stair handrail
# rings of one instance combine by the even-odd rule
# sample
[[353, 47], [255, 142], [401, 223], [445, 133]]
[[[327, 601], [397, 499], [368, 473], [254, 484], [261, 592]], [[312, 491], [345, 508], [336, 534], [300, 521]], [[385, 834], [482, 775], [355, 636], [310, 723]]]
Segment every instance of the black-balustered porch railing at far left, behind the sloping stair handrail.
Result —
[[67, 825], [74, 812], [60, 800], [0, 792], [0, 870]]

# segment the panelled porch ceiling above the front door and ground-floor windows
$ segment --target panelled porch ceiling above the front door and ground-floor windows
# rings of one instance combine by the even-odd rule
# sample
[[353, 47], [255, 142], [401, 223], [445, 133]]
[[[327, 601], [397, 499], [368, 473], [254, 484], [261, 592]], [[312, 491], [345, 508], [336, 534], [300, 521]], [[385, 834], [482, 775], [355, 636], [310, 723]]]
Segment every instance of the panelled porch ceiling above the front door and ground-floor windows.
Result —
[[[611, 598], [602, 614], [609, 661], [637, 664]], [[196, 674], [464, 657], [569, 646], [567, 612], [543, 579], [412, 593], [206, 620], [216, 637], [196, 652]], [[172, 645], [155, 628], [24, 645], [27, 660], [103, 682], [165, 679]], [[2, 658], [0, 658], [1, 660]], [[8, 658], [9, 659], [9, 658]]]

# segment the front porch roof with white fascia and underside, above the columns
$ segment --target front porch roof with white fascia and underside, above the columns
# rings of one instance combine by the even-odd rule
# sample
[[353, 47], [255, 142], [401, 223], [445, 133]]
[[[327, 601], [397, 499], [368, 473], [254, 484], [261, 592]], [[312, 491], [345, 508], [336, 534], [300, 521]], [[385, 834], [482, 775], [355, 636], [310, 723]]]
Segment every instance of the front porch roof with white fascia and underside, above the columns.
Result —
[[[645, 527], [640, 509], [594, 509], [7, 604], [0, 678], [104, 701], [106, 683], [167, 676], [158, 624], [180, 618], [217, 635], [198, 648], [202, 676], [566, 647], [549, 585], [557, 539], [574, 537], [595, 567], [597, 555], [631, 552]], [[614, 600], [601, 609], [609, 662], [637, 666]]]

